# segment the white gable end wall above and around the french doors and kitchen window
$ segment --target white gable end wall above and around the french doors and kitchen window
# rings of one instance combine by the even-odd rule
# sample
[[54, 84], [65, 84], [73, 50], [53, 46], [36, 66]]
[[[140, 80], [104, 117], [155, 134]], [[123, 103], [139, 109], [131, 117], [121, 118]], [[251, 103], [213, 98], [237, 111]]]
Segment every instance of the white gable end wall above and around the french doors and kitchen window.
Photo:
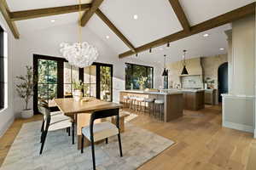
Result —
[[[26, 37], [20, 37], [17, 42], [17, 55], [13, 62], [14, 76], [23, 74], [25, 72], [25, 65], [32, 65], [33, 54], [44, 54], [49, 56], [61, 56], [60, 43], [61, 42], [77, 42], [78, 41], [78, 26], [74, 23], [66, 26], [56, 26], [45, 29], [43, 31], [35, 31], [26, 34]], [[113, 101], [119, 101], [119, 90], [125, 89], [125, 62], [131, 62], [140, 65], [154, 66], [154, 87], [160, 86], [160, 67], [150, 63], [141, 61], [134, 57], [128, 59], [119, 59], [118, 54], [112, 48], [103, 42], [93, 31], [89, 28], [83, 28], [83, 41], [87, 41], [99, 50], [99, 58], [97, 62], [113, 64]], [[19, 112], [23, 107], [23, 103], [15, 95], [15, 114], [19, 116]], [[32, 107], [32, 101], [31, 101]]]

